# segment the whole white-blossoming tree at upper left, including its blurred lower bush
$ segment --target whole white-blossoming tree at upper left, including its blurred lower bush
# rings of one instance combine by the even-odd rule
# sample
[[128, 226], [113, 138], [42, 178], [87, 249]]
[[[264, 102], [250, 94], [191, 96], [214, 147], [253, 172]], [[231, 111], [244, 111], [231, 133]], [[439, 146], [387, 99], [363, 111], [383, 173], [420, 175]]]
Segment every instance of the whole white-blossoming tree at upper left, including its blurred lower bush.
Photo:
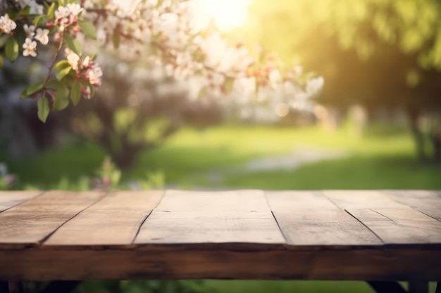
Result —
[[[218, 122], [221, 103], [224, 109], [235, 100], [251, 103], [259, 94], [271, 96], [270, 91], [305, 99], [323, 84], [323, 79], [300, 79], [293, 70], [280, 70], [273, 58], [261, 58], [240, 44], [231, 46], [216, 27], [197, 25], [194, 5], [186, 0], [0, 1], [0, 67], [4, 61], [18, 65], [23, 58], [42, 63], [43, 74], [25, 71], [39, 78], [24, 80], [28, 86], [13, 93], [15, 100], [34, 100], [28, 104], [37, 108], [42, 122], [63, 110], [58, 117], [73, 121], [78, 133], [98, 141], [122, 168], [184, 124]], [[153, 72], [137, 74], [143, 67], [159, 69], [168, 84], [150, 79]], [[197, 85], [179, 87], [193, 82]], [[309, 82], [315, 86], [308, 87]], [[178, 90], [170, 91], [176, 85]], [[90, 105], [68, 107], [96, 91], [99, 98]], [[9, 129], [27, 118], [2, 114], [0, 124]]]

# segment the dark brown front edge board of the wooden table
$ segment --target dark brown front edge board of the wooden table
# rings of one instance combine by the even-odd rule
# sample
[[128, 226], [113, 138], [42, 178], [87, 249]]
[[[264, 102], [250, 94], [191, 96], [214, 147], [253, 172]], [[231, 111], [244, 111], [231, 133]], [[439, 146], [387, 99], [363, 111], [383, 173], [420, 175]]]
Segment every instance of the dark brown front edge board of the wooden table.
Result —
[[0, 259], [0, 280], [441, 280], [440, 251], [425, 249], [26, 249]]

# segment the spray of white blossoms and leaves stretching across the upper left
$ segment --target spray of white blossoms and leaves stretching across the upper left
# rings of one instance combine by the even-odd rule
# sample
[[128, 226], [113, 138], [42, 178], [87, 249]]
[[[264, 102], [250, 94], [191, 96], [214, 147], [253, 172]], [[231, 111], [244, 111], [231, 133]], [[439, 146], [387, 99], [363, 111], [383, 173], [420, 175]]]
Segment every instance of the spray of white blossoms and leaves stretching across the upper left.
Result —
[[[21, 45], [23, 56], [36, 56], [37, 41], [49, 44], [49, 36], [54, 35], [58, 50], [49, 77], [43, 84], [25, 91], [25, 96], [34, 97], [38, 93], [42, 94], [40, 99], [45, 100], [46, 86], [51, 76], [56, 75], [58, 96], [51, 100], [54, 109], [66, 107], [69, 95], [76, 105], [80, 91], [89, 98], [89, 92], [101, 85], [101, 67], [94, 58], [80, 57], [81, 46], [97, 50], [98, 45], [103, 51], [110, 46], [119, 48], [118, 60], [145, 60], [143, 65], [161, 68], [167, 77], [194, 84], [198, 90], [191, 91], [198, 92], [198, 97], [237, 97], [244, 103], [254, 103], [282, 93], [290, 99], [312, 96], [323, 85], [321, 80], [311, 84], [299, 82], [295, 70], [280, 70], [274, 58], [263, 58], [261, 52], [250, 52], [242, 45], [231, 46], [213, 27], [197, 27], [192, 1], [132, 1], [130, 8], [108, 0], [68, 2], [51, 1], [44, 8], [36, 1], [15, 0], [20, 6], [14, 14], [18, 16], [11, 19], [12, 16], [6, 14], [0, 18], [0, 33], [10, 35], [17, 23], [23, 22], [26, 37]], [[87, 38], [97, 42], [89, 46]], [[8, 37], [6, 46], [8, 58], [15, 60], [17, 40]], [[66, 47], [66, 60], [58, 61]], [[42, 101], [41, 108], [47, 108], [46, 104]], [[41, 112], [46, 119], [49, 112]]]

